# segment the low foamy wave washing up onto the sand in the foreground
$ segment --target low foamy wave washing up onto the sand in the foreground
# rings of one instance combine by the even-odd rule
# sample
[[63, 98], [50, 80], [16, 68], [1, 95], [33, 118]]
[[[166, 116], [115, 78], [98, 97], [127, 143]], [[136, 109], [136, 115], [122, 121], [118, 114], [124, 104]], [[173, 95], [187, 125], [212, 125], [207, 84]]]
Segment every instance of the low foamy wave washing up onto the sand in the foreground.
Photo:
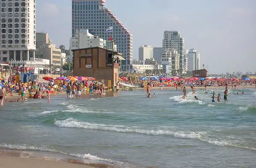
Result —
[[1, 148], [6, 148], [6, 149], [15, 149], [15, 150], [34, 150], [34, 151], [44, 151], [44, 152], [53, 152], [53, 153], [60, 153], [63, 155], [67, 156], [72, 156], [72, 157], [77, 157], [81, 159], [87, 159], [87, 160], [92, 160], [92, 161], [104, 161], [106, 163], [111, 163], [115, 164], [117, 166], [121, 166], [122, 168], [135, 168], [135, 165], [128, 164], [126, 162], [121, 162], [121, 161], [116, 161], [113, 159], [106, 159], [102, 157], [98, 157], [96, 155], [92, 155], [90, 153], [86, 154], [80, 154], [80, 153], [68, 153], [64, 152], [61, 150], [56, 150], [53, 147], [48, 147], [48, 146], [30, 146], [30, 145], [19, 145], [19, 144], [5, 144], [2, 143], [0, 144]]

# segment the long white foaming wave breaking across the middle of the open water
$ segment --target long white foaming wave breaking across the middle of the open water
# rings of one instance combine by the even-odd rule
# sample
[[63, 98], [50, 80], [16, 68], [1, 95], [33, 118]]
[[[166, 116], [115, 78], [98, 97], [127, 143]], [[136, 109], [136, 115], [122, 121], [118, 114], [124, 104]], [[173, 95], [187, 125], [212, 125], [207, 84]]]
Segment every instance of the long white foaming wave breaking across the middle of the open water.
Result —
[[56, 120], [54, 125], [58, 127], [64, 128], [84, 128], [84, 129], [94, 129], [94, 130], [102, 130], [102, 131], [116, 131], [116, 132], [124, 132], [124, 133], [138, 133], [144, 135], [170, 135], [175, 138], [180, 139], [198, 139], [202, 142], [207, 142], [217, 146], [234, 146], [239, 148], [244, 148], [248, 150], [256, 150], [254, 147], [249, 147], [243, 144], [239, 144], [237, 142], [230, 142], [228, 140], [219, 140], [219, 139], [209, 139], [207, 138], [207, 134], [209, 132], [206, 131], [171, 131], [166, 129], [156, 129], [156, 130], [147, 130], [143, 128], [139, 128], [136, 126], [124, 126], [124, 125], [111, 125], [111, 124], [95, 124], [88, 123], [83, 121], [77, 121], [74, 118], [68, 118], [66, 120]]

